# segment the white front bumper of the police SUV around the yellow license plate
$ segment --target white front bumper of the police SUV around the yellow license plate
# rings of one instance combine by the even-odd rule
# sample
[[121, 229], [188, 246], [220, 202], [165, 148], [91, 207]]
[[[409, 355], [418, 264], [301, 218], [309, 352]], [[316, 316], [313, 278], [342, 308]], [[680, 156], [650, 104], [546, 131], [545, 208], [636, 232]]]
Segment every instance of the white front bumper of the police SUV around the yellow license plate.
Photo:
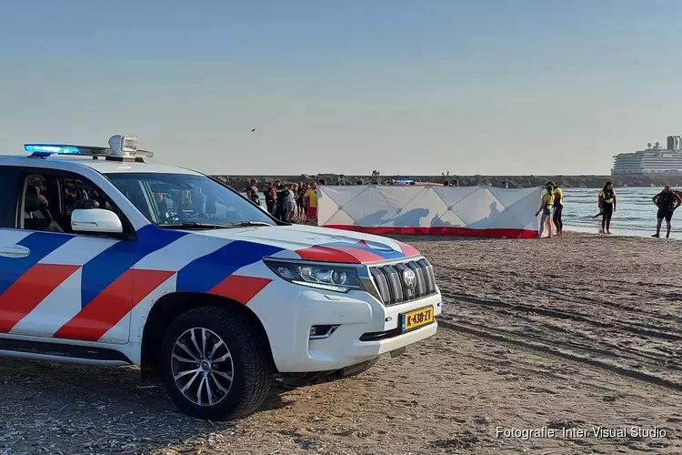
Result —
[[[281, 373], [342, 369], [401, 349], [436, 333], [434, 322], [400, 332], [400, 315], [432, 306], [443, 308], [440, 292], [385, 307], [365, 291], [319, 291], [275, 279], [248, 303], [261, 320]], [[311, 339], [310, 328], [338, 325], [328, 338]]]

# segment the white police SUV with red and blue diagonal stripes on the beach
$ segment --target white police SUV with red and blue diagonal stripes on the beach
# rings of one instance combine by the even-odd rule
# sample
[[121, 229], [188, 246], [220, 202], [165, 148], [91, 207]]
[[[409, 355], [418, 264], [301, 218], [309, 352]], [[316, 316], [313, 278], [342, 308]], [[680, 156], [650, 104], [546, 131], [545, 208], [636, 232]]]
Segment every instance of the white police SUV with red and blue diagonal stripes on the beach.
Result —
[[436, 333], [433, 268], [404, 243], [283, 223], [134, 136], [25, 151], [0, 156], [0, 355], [137, 365], [222, 419]]

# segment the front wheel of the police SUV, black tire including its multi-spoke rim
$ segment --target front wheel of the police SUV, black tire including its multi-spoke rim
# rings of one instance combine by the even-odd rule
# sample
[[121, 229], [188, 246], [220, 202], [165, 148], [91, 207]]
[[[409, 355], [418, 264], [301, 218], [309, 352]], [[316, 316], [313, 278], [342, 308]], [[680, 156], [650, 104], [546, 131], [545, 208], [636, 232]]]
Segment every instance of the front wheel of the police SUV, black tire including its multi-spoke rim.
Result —
[[161, 379], [176, 407], [202, 420], [256, 412], [273, 377], [269, 346], [258, 333], [244, 315], [226, 308], [196, 308], [178, 316], [165, 331], [159, 359]]

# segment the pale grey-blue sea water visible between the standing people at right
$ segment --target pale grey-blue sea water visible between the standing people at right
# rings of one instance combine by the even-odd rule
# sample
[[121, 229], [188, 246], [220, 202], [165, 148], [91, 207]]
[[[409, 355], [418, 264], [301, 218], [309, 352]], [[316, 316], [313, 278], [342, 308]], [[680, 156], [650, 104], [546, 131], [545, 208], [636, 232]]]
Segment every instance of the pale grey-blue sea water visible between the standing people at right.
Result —
[[[611, 218], [611, 233], [617, 236], [650, 237], [656, 232], [657, 207], [651, 202], [662, 188], [659, 187], [619, 187], [616, 188], [617, 208]], [[599, 188], [564, 189], [564, 230], [597, 234], [601, 217], [592, 218], [599, 213], [597, 196]], [[259, 194], [261, 205], [265, 197]], [[539, 205], [539, 203], [538, 203]], [[670, 238], [682, 239], [682, 208], [672, 221]], [[677, 227], [677, 228], [676, 228]], [[662, 232], [665, 235], [666, 223]]]

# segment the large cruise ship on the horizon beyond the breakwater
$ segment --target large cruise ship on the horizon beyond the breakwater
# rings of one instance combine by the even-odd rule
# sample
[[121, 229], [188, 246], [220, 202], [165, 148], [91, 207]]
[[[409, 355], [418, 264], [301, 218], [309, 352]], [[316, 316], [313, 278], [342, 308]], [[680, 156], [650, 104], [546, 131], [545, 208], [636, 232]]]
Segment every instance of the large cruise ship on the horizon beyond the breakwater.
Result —
[[619, 153], [614, 157], [612, 176], [623, 174], [682, 174], [682, 138], [667, 136], [667, 147], [647, 144], [647, 149]]

